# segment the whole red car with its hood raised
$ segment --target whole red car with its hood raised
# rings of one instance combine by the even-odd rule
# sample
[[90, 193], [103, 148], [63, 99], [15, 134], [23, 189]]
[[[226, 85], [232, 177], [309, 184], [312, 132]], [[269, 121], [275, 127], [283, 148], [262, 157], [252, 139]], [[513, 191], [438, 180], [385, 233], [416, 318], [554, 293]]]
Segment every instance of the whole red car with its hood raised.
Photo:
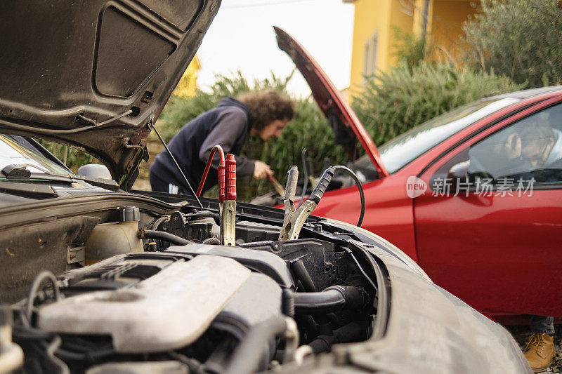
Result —
[[[281, 30], [277, 41], [322, 111], [365, 149], [351, 163], [363, 228], [487, 316], [562, 317], [562, 87], [483, 98], [377, 149], [313, 58]], [[346, 187], [314, 214], [355, 224], [359, 213], [358, 189]]]

